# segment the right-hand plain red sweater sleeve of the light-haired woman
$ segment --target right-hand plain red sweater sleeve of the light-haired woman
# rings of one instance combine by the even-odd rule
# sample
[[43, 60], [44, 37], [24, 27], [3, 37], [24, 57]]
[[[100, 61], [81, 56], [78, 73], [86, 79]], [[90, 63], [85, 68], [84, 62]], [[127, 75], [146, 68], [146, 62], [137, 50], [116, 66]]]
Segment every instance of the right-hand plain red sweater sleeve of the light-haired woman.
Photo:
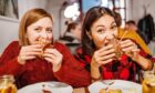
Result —
[[80, 65], [65, 45], [59, 46], [63, 54], [63, 63], [58, 72], [54, 72], [56, 79], [75, 87], [87, 86], [91, 83], [90, 73]]

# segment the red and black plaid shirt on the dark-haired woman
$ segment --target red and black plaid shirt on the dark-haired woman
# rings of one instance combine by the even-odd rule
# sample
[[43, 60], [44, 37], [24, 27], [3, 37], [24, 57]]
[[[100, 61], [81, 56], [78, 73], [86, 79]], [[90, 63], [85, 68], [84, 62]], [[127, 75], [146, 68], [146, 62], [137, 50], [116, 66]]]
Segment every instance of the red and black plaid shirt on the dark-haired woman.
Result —
[[[152, 55], [145, 53], [143, 50], [140, 51], [140, 54], [154, 62]], [[84, 66], [90, 72], [92, 56], [84, 54], [82, 48], [79, 48], [75, 58], [81, 63], [81, 66]], [[140, 70], [141, 66], [126, 54], [121, 55], [120, 60], [113, 60], [113, 62], [100, 68], [103, 80], [127, 80], [134, 82], [140, 82], [140, 80], [136, 79], [136, 75], [140, 75]]]

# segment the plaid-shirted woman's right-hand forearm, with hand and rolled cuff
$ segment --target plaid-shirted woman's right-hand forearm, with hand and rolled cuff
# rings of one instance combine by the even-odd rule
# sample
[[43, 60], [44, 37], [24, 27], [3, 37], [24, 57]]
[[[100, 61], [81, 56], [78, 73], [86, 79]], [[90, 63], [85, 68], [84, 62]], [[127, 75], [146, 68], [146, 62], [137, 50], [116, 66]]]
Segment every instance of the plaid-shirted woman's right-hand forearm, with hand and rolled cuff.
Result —
[[131, 56], [143, 70], [151, 70], [153, 68], [153, 62], [151, 59], [146, 59], [145, 52], [141, 53], [142, 50], [132, 40], [124, 40], [121, 42], [122, 50]]

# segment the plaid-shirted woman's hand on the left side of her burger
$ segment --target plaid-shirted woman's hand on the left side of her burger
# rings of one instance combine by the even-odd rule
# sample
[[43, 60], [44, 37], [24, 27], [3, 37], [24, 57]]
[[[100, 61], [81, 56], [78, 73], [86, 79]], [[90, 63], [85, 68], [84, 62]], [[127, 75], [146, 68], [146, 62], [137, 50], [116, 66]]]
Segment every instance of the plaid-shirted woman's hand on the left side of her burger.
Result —
[[100, 68], [101, 65], [112, 62], [115, 56], [114, 51], [115, 50], [112, 44], [96, 50], [93, 54], [91, 66]]

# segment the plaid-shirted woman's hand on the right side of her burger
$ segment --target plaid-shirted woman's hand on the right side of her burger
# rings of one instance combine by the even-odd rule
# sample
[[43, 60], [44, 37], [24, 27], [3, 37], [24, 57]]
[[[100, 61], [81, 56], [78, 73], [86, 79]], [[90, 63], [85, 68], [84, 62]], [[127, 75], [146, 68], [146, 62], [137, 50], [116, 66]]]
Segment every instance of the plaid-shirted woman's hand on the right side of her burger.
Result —
[[122, 51], [128, 56], [131, 56], [133, 60], [137, 58], [140, 49], [135, 44], [135, 42], [133, 42], [132, 40], [127, 39], [127, 40], [121, 41], [121, 48], [122, 48]]

